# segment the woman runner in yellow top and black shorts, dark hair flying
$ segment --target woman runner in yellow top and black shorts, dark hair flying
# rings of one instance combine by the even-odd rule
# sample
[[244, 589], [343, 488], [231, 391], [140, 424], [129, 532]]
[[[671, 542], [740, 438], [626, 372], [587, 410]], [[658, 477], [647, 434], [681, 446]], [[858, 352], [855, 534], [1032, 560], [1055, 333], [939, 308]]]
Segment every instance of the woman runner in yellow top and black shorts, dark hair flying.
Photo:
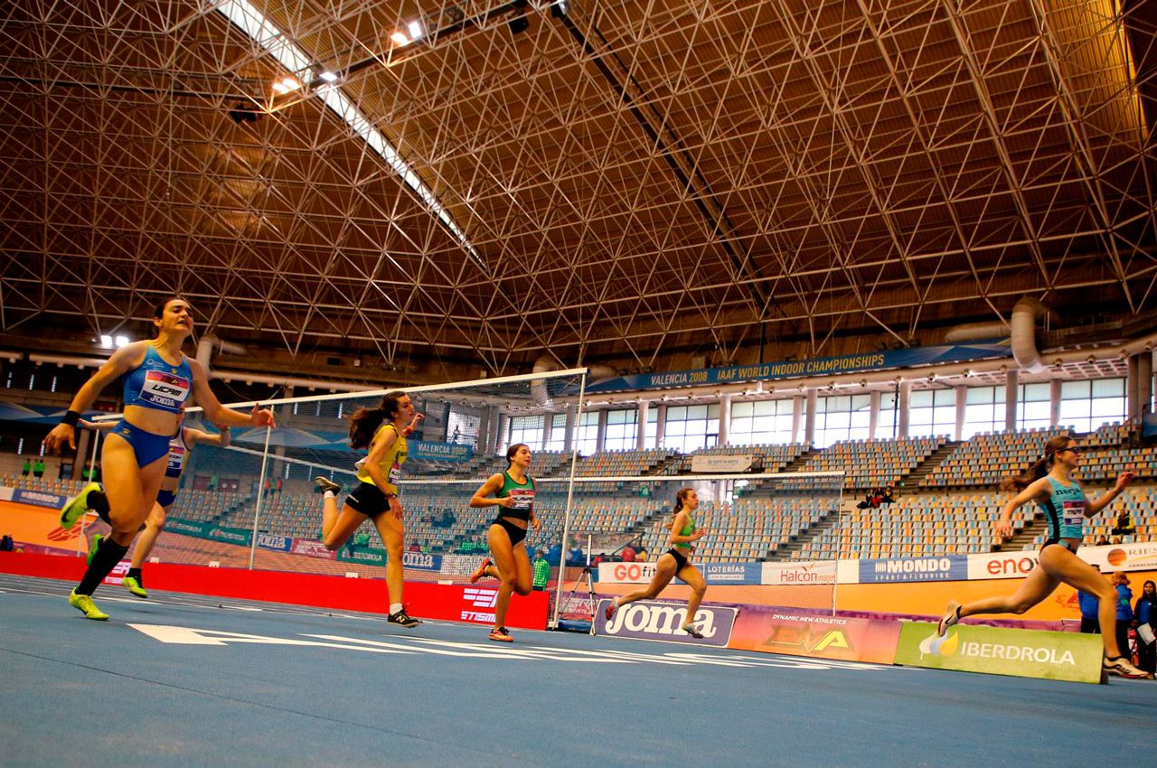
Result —
[[[322, 511], [322, 542], [327, 549], [339, 549], [367, 518], [374, 520], [385, 544], [385, 584], [390, 591], [388, 621], [401, 627], [417, 627], [420, 621], [406, 614], [401, 603], [401, 552], [406, 529], [401, 523], [398, 481], [406, 463], [406, 435], [422, 419], [405, 392], [386, 392], [376, 408], [359, 408], [349, 418], [349, 445], [369, 449], [369, 456], [358, 463], [358, 487], [346, 496], [338, 511], [334, 495], [341, 486], [329, 478], [315, 478], [325, 492]], [[389, 514], [388, 514], [389, 512]]]

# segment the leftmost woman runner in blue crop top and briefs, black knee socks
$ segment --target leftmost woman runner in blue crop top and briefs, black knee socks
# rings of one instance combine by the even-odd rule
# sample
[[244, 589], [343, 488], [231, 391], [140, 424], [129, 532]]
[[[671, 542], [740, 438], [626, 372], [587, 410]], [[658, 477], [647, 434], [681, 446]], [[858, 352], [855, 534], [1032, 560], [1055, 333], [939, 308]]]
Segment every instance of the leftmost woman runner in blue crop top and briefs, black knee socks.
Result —
[[[216, 423], [273, 427], [271, 411], [253, 407], [245, 416], [223, 407], [208, 385], [200, 363], [184, 355], [180, 347], [193, 332], [193, 312], [183, 298], [170, 298], [153, 313], [157, 335], [152, 341], [126, 345], [109, 357], [73, 398], [64, 421], [44, 438], [49, 451], [64, 445], [76, 448], [75, 431], [80, 414], [116, 378], [124, 376], [124, 418], [112, 428], [101, 451], [101, 464], [109, 497], [112, 531], [96, 552], [68, 604], [87, 619], [103, 621], [108, 614], [93, 603], [93, 592], [120, 562], [141, 524], [156, 502], [164, 468], [169, 464], [169, 441], [177, 434], [182, 406], [190, 396]], [[76, 507], [76, 516], [83, 512]], [[72, 525], [72, 520], [62, 520]]]

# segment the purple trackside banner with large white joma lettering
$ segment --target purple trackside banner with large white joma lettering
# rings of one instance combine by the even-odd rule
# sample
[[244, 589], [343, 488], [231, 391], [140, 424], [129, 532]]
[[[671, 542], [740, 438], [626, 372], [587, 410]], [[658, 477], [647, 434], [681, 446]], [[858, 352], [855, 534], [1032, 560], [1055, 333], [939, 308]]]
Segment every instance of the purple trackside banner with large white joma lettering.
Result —
[[687, 606], [678, 603], [651, 603], [640, 600], [625, 605], [606, 619], [610, 600], [599, 600], [595, 610], [595, 634], [634, 640], [668, 640], [692, 645], [725, 647], [735, 625], [736, 608], [699, 606], [694, 626], [702, 637], [692, 637], [681, 627], [687, 616]]

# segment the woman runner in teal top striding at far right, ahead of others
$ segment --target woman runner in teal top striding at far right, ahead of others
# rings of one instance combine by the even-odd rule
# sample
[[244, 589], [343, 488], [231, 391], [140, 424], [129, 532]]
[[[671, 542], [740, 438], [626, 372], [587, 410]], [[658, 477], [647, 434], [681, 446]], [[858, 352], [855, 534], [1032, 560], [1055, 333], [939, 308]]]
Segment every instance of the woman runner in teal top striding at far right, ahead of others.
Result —
[[[1122, 678], [1149, 678], [1152, 674], [1135, 667], [1121, 656], [1117, 645], [1117, 590], [1105, 581], [1092, 566], [1076, 556], [1077, 547], [1084, 538], [1084, 520], [1092, 517], [1117, 499], [1136, 477], [1122, 472], [1107, 493], [1096, 501], [1085, 499], [1081, 483], [1073, 472], [1081, 464], [1081, 448], [1067, 435], [1057, 435], [1045, 443], [1045, 457], [1034, 463], [1024, 474], [1015, 475], [1001, 483], [1002, 490], [1016, 492], [1004, 505], [996, 523], [996, 534], [1001, 539], [1012, 536], [1012, 512], [1029, 502], [1037, 502], [1048, 523], [1048, 539], [1040, 551], [1037, 567], [1025, 577], [1012, 595], [974, 600], [960, 605], [950, 601], [944, 611], [936, 634], [941, 637], [948, 628], [965, 616], [981, 613], [1020, 614], [1053, 593], [1061, 582], [1095, 595], [1098, 600], [1100, 636], [1105, 643], [1104, 670]], [[1047, 474], [1046, 474], [1047, 472]]]

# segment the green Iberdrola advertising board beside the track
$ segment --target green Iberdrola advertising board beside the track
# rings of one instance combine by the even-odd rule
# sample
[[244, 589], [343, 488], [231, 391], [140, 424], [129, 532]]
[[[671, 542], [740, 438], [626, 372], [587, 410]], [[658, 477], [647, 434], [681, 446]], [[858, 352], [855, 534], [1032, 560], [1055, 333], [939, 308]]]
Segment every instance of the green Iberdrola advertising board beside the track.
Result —
[[906, 621], [896, 663], [1096, 684], [1103, 652], [1098, 635], [957, 625], [937, 637], [936, 625]]

